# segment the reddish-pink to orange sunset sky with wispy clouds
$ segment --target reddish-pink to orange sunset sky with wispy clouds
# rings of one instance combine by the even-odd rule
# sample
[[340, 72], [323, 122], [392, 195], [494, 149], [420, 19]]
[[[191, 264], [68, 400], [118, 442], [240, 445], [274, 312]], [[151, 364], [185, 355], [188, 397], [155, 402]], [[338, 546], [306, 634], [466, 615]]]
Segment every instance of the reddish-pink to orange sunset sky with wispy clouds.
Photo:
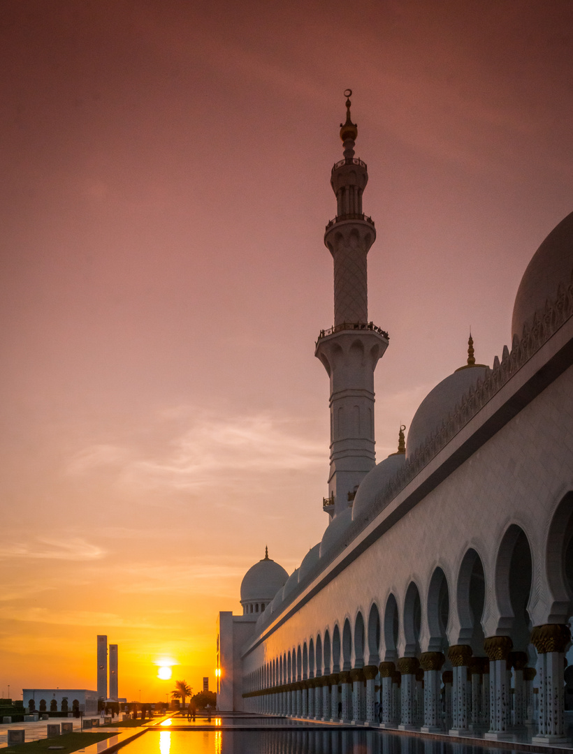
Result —
[[573, 209], [573, 5], [2, 0], [0, 692], [214, 686], [215, 621], [322, 537], [322, 237], [353, 89], [377, 459], [510, 345]]

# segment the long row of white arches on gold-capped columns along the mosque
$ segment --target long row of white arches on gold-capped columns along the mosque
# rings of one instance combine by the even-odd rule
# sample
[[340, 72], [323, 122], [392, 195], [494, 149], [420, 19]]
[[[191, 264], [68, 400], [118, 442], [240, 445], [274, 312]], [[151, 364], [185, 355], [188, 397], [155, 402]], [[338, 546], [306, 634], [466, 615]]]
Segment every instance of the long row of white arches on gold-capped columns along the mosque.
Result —
[[[521, 526], [510, 524], [491, 572], [467, 547], [457, 573], [433, 567], [424, 593], [411, 581], [403, 594], [390, 591], [383, 605], [357, 605], [354, 615], [248, 673], [245, 710], [452, 735], [482, 728], [500, 739], [536, 725], [538, 740], [563, 740], [573, 492], [553, 514], [544, 563], [533, 562], [529, 542]], [[534, 626], [529, 615], [540, 599], [539, 568], [546, 569], [552, 602], [547, 623]], [[495, 635], [485, 636], [491, 590], [500, 618]]]

